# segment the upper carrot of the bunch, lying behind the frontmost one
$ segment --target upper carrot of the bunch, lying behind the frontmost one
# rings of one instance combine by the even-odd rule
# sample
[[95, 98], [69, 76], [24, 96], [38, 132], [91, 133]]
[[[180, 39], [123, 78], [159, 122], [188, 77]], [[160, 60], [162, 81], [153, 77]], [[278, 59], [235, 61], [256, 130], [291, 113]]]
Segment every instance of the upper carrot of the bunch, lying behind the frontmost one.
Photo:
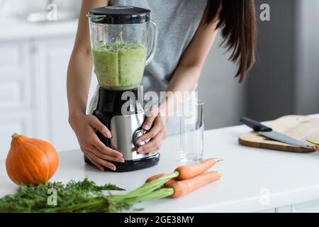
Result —
[[175, 171], [179, 172], [179, 176], [176, 179], [189, 179], [191, 177], [196, 177], [197, 175], [200, 175], [209, 168], [213, 167], [215, 164], [216, 160], [211, 158], [196, 164], [177, 167]]

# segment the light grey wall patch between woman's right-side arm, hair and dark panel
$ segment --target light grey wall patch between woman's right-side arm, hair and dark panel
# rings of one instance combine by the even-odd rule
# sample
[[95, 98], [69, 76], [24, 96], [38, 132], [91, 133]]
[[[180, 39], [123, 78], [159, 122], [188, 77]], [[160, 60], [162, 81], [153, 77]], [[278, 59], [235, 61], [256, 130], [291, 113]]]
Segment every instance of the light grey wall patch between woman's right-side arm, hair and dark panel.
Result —
[[239, 123], [245, 115], [245, 84], [234, 79], [237, 65], [228, 61], [229, 53], [220, 48], [218, 34], [198, 82], [198, 97], [205, 101], [205, 128]]

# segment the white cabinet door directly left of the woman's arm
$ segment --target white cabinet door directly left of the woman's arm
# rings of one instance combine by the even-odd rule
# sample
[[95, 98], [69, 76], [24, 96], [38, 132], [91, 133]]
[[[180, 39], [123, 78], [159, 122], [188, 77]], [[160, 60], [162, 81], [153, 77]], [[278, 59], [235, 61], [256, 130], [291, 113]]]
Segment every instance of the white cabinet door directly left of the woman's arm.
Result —
[[57, 150], [78, 147], [69, 127], [67, 107], [67, 65], [74, 38], [33, 40], [32, 62], [36, 89], [38, 138], [45, 138]]

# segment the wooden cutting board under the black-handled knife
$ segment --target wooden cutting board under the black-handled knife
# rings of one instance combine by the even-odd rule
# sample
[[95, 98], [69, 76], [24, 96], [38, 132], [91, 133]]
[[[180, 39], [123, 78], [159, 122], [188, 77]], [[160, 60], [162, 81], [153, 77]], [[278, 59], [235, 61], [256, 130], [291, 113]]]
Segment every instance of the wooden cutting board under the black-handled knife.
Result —
[[[319, 118], [296, 115], [283, 116], [275, 121], [265, 123], [265, 125], [271, 127], [274, 131], [284, 133], [305, 143], [307, 143], [306, 140], [319, 142]], [[319, 148], [315, 146], [313, 146], [313, 149], [306, 149], [270, 140], [254, 131], [240, 136], [239, 143], [254, 148], [282, 150], [295, 153], [310, 153], [319, 150]]]

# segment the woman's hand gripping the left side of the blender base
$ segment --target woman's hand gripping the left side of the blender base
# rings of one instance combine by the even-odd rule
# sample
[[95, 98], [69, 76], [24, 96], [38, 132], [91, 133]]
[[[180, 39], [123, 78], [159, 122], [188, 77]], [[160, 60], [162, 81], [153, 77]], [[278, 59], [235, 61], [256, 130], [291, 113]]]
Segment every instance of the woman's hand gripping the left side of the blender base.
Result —
[[106, 147], [96, 135], [96, 131], [99, 131], [106, 138], [112, 138], [111, 132], [96, 116], [80, 114], [69, 118], [69, 124], [77, 135], [82, 152], [101, 171], [104, 171], [104, 167], [116, 170], [116, 166], [107, 160], [124, 162], [121, 153]]

